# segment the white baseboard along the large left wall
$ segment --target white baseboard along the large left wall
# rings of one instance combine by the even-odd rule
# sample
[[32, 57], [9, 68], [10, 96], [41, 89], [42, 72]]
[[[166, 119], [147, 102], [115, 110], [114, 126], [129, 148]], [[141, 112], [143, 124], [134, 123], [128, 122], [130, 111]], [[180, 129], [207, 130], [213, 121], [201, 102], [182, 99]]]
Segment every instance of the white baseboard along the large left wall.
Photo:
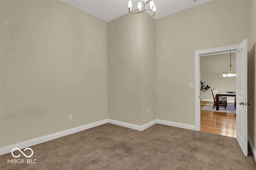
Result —
[[36, 145], [36, 144], [47, 142], [49, 140], [60, 138], [60, 137], [63, 137], [63, 136], [69, 135], [69, 134], [80, 132], [82, 130], [97, 127], [97, 126], [103, 125], [105, 123], [108, 123], [108, 119], [104, 119], [102, 121], [89, 123], [87, 125], [83, 125], [83, 126], [80, 126], [80, 127], [71, 128], [71, 129], [68, 129], [68, 130], [63, 130], [61, 132], [49, 134], [49, 135], [42, 136], [42, 137], [39, 137], [39, 138], [35, 138], [35, 139], [32, 139], [32, 140], [27, 140], [25, 142], [20, 142], [20, 143], [17, 143], [17, 144], [6, 146], [6, 147], [3, 147], [3, 148], [0, 148], [0, 155], [10, 153], [13, 148], [20, 148], [20, 149], [21, 148], [26, 148], [26, 147], [33, 146], [33, 145]]

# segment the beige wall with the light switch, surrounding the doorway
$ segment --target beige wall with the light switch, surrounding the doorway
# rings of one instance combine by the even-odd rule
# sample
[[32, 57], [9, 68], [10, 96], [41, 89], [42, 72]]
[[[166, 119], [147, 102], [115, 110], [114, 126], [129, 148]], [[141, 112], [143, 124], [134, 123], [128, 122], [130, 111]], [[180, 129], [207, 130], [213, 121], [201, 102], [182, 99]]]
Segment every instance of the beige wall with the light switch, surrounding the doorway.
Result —
[[248, 9], [250, 1], [210, 1], [156, 20], [158, 119], [195, 125], [195, 51], [248, 38]]

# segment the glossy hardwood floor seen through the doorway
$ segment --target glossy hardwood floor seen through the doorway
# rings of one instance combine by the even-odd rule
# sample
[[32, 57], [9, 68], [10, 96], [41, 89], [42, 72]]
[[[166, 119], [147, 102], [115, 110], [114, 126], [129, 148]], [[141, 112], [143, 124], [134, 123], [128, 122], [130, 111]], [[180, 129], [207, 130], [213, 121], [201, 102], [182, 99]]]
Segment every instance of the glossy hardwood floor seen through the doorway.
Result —
[[[201, 101], [201, 108], [207, 103]], [[236, 114], [201, 111], [201, 131], [236, 138]]]

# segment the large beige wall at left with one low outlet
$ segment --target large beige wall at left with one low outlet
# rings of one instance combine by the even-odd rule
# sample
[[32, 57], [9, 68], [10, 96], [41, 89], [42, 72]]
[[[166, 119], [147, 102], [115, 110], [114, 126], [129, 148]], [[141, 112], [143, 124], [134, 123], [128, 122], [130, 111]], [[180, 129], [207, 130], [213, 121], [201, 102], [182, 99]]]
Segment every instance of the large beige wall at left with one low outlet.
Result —
[[107, 23], [60, 1], [1, 1], [0, 147], [107, 118]]

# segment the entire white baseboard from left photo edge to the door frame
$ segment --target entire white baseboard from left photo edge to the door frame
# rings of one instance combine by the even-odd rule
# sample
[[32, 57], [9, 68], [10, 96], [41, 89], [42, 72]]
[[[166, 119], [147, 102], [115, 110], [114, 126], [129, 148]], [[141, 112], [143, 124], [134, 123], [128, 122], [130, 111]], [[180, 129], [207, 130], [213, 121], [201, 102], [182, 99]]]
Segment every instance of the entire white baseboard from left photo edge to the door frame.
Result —
[[[71, 129], [68, 129], [68, 130], [61, 131], [61, 132], [49, 134], [49, 135], [46, 135], [46, 136], [42, 136], [42, 137], [39, 137], [39, 138], [35, 138], [35, 139], [32, 139], [32, 140], [27, 140], [27, 141], [24, 141], [24, 142], [20, 142], [20, 143], [17, 143], [17, 144], [13, 144], [13, 145], [10, 145], [10, 146], [0, 148], [0, 155], [10, 153], [13, 148], [20, 148], [20, 149], [27, 148], [27, 147], [30, 147], [30, 146], [33, 146], [33, 145], [36, 145], [36, 144], [47, 142], [49, 140], [53, 140], [53, 139], [56, 139], [56, 138], [60, 138], [60, 137], [69, 135], [69, 134], [80, 132], [82, 130], [97, 127], [97, 126], [103, 125], [105, 123], [112, 123], [114, 125], [119, 125], [119, 126], [126, 127], [126, 128], [132, 128], [132, 129], [139, 130], [139, 131], [143, 131], [146, 128], [151, 127], [152, 125], [155, 125], [156, 123], [161, 124], [161, 125], [168, 125], [168, 126], [173, 126], [173, 127], [196, 130], [194, 125], [187, 125], [187, 124], [183, 124], [183, 123], [176, 123], [176, 122], [164, 121], [164, 120], [159, 120], [159, 119], [155, 119], [154, 121], [146, 123], [145, 125], [142, 125], [142, 126], [134, 125], [134, 124], [131, 124], [131, 123], [125, 123], [125, 122], [121, 122], [121, 121], [115, 121], [115, 120], [112, 120], [112, 119], [104, 119], [102, 121], [90, 123], [90, 124], [83, 125], [83, 126], [76, 127], [76, 128], [71, 128]], [[254, 152], [255, 152], [255, 150], [254, 150]]]

